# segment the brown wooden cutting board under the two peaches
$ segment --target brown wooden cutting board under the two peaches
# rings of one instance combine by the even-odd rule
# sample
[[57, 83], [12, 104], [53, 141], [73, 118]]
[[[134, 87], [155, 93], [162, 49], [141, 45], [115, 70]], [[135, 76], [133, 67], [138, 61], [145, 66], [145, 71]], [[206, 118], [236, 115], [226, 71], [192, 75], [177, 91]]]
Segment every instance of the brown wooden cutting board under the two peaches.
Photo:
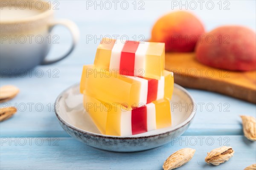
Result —
[[166, 70], [175, 83], [188, 88], [214, 91], [256, 103], [256, 71], [227, 71], [203, 65], [195, 53], [166, 53]]

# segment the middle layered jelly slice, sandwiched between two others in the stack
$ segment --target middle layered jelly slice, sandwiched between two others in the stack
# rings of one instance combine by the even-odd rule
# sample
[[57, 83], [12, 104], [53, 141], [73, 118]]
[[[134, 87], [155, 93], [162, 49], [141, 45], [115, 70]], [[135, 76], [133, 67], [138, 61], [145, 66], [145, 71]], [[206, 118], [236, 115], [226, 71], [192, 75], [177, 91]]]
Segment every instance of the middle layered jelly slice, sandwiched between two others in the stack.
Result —
[[163, 71], [160, 80], [123, 76], [109, 69], [84, 65], [80, 91], [96, 99], [136, 108], [158, 99], [172, 98], [173, 73]]

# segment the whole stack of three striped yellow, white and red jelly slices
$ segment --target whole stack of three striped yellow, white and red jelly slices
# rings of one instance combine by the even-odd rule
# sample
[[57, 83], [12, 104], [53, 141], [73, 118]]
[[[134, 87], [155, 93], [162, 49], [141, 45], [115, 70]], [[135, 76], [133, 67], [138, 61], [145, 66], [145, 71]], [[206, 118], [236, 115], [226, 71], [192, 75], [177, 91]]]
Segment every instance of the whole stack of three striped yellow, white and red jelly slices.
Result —
[[84, 108], [102, 134], [130, 136], [172, 125], [173, 73], [165, 45], [102, 39], [94, 65], [84, 65]]

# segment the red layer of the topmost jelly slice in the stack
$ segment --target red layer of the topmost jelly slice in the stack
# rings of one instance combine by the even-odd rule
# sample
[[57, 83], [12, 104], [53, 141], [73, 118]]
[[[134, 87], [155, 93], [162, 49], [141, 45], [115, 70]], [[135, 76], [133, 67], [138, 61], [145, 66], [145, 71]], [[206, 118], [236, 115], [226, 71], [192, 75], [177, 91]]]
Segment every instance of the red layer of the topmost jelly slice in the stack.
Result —
[[122, 48], [119, 73], [127, 76], [134, 76], [135, 52], [139, 42], [127, 41]]

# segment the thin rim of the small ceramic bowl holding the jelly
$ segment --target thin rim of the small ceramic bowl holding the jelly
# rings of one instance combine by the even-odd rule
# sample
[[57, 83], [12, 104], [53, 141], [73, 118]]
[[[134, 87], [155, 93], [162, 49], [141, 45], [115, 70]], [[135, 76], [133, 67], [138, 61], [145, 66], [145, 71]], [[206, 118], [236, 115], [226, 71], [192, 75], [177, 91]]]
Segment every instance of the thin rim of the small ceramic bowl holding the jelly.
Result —
[[[61, 99], [61, 96], [63, 96], [63, 94], [69, 90], [70, 88], [74, 88], [76, 86], [78, 86], [80, 83], [76, 83], [74, 85], [71, 85], [70, 87], [66, 88], [64, 91], [62, 91], [58, 97], [55, 99], [55, 103], [58, 103], [58, 101]], [[174, 83], [174, 87], [176, 88], [179, 88], [180, 90], [182, 90], [192, 101], [192, 103], [195, 103], [195, 100], [193, 99], [193, 97], [189, 94], [189, 92], [183, 88], [182, 86], [180, 85], [177, 85], [176, 83]], [[183, 121], [182, 123], [176, 125], [175, 127], [172, 127], [171, 129], [168, 129], [162, 133], [158, 133], [158, 134], [153, 134], [153, 135], [146, 135], [146, 136], [110, 136], [110, 135], [104, 135], [104, 134], [99, 134], [99, 133], [93, 133], [93, 132], [89, 132], [89, 131], [86, 131], [86, 130], [82, 130], [82, 129], [79, 129], [78, 127], [75, 127], [73, 125], [71, 125], [70, 123], [64, 121], [61, 116], [58, 115], [57, 112], [59, 111], [56, 111], [56, 105], [54, 105], [54, 111], [55, 111], [55, 114], [58, 118], [58, 120], [60, 121], [61, 124], [73, 129], [73, 130], [76, 130], [76, 131], [79, 131], [80, 133], [84, 133], [85, 135], [89, 135], [89, 136], [94, 136], [94, 137], [104, 137], [104, 138], [108, 138], [108, 139], [144, 139], [144, 138], [150, 138], [150, 137], [154, 137], [154, 136], [160, 136], [160, 135], [164, 135], [164, 134], [167, 134], [167, 133], [170, 133], [170, 132], [173, 132], [177, 129], [180, 129], [181, 127], [189, 124], [189, 122], [191, 122], [191, 120], [194, 118], [195, 116], [195, 113], [196, 113], [196, 110], [195, 110], [195, 105], [193, 105], [193, 109], [191, 111], [191, 114], [189, 115], [189, 117]]]

